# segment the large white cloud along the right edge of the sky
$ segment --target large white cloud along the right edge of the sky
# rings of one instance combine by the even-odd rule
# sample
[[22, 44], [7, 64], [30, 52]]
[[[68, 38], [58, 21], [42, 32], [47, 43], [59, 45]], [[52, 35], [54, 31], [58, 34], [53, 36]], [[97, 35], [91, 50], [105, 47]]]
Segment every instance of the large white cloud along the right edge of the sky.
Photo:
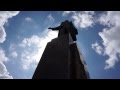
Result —
[[120, 57], [120, 12], [108, 11], [101, 14], [99, 22], [108, 27], [99, 32], [102, 39], [103, 55], [108, 56], [105, 69], [114, 68]]

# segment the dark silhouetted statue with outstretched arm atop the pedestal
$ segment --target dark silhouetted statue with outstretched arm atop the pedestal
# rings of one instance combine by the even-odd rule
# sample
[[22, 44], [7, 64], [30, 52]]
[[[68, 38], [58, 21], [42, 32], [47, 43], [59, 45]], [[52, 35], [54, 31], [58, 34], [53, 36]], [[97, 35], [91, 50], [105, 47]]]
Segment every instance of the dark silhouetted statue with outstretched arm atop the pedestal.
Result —
[[67, 33], [70, 33], [73, 41], [76, 41], [76, 35], [78, 34], [78, 31], [77, 29], [74, 27], [73, 23], [68, 21], [68, 20], [65, 20], [64, 22], [61, 23], [60, 26], [58, 27], [54, 27], [54, 28], [48, 28], [48, 29], [52, 29], [52, 30], [59, 30], [59, 33], [58, 33], [58, 37], [60, 37], [61, 35], [64, 35], [64, 34], [67, 34]]

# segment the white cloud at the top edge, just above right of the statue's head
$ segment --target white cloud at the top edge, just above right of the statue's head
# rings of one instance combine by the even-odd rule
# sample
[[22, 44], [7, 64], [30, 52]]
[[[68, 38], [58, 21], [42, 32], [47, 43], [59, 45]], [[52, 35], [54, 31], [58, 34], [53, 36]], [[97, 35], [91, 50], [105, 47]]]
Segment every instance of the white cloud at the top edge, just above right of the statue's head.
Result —
[[73, 19], [76, 27], [88, 28], [94, 25], [94, 11], [65, 11], [63, 16], [72, 14], [71, 18]]

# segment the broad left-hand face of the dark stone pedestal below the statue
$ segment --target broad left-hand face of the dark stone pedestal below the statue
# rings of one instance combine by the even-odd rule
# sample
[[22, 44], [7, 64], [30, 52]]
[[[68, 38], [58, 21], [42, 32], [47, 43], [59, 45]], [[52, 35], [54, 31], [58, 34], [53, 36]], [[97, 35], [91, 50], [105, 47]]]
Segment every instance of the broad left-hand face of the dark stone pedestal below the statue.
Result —
[[69, 36], [49, 42], [33, 75], [33, 79], [68, 79]]

